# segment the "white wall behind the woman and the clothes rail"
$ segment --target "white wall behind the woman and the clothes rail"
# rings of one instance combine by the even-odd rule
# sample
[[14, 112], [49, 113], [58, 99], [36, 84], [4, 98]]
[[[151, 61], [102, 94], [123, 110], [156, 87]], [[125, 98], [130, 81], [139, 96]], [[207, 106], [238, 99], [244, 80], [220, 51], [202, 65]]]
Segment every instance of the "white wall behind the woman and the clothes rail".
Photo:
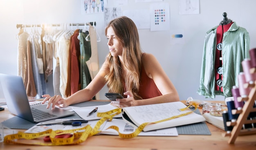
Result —
[[[108, 0], [109, 5], [113, 0]], [[199, 87], [204, 36], [206, 32], [223, 20], [222, 14], [249, 32], [251, 45], [255, 48], [255, 0], [200, 0], [200, 14], [179, 15], [179, 0], [164, 0], [170, 4], [170, 30], [184, 30], [183, 45], [170, 44], [170, 30], [150, 32], [139, 29], [141, 47], [145, 52], [157, 57], [162, 67], [177, 88], [181, 100], [188, 97], [200, 100], [224, 100], [223, 96], [215, 99], [204, 98], [196, 92]], [[104, 35], [103, 13], [80, 13], [80, 0], [0, 0], [0, 73], [17, 74], [17, 45], [15, 36], [19, 29], [16, 24], [42, 23], [85, 23], [97, 22], [97, 32], [101, 37], [98, 43], [99, 63], [103, 63], [108, 53]], [[113, 7], [112, 5], [109, 7]], [[150, 2], [135, 3], [128, 0], [124, 10], [149, 9]], [[29, 30], [27, 28], [27, 30]], [[51, 80], [47, 93], [52, 94]], [[104, 87], [100, 98], [106, 99]], [[0, 93], [1, 96], [1, 93]]]

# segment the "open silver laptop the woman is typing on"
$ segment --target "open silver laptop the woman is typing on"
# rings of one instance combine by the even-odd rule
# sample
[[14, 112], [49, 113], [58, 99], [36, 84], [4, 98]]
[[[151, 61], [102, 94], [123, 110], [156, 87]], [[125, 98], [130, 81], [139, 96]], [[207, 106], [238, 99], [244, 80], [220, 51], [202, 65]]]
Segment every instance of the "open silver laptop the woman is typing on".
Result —
[[[56, 107], [54, 110], [51, 108], [47, 109], [45, 104], [30, 106], [25, 86], [20, 76], [0, 74], [0, 85], [4, 93], [8, 110], [14, 115], [30, 122], [42, 122], [75, 114], [72, 111]], [[36, 115], [34, 112], [45, 113], [47, 116], [44, 117], [40, 114]]]

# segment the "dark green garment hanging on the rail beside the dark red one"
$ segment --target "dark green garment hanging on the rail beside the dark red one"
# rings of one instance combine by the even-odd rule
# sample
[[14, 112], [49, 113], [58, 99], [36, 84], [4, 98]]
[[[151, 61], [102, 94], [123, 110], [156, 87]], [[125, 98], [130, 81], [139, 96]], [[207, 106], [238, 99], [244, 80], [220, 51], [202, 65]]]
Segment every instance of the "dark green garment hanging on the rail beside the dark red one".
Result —
[[86, 41], [88, 33], [79, 32], [79, 44], [80, 44], [80, 80], [81, 89], [87, 87], [87, 85], [92, 81], [90, 71], [86, 64], [92, 55], [90, 41]]

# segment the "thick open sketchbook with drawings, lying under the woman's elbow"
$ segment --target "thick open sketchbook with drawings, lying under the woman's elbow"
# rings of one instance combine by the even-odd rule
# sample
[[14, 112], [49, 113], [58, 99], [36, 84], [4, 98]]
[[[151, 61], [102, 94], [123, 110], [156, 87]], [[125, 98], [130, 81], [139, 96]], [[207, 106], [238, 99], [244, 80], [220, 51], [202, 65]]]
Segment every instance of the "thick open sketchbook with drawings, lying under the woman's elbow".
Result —
[[[135, 107], [124, 107], [122, 110], [122, 118], [123, 120], [126, 120], [126, 122], [128, 122], [130, 125], [138, 127], [139, 125], [146, 122], [156, 122], [191, 112], [190, 109], [186, 109], [184, 111], [179, 110], [185, 107], [186, 105], [182, 102], [168, 102]], [[159, 122], [157, 124], [148, 124], [144, 127], [143, 131], [170, 128], [203, 121], [205, 121], [205, 118], [202, 115], [191, 112], [188, 115], [177, 117], [164, 122]]]

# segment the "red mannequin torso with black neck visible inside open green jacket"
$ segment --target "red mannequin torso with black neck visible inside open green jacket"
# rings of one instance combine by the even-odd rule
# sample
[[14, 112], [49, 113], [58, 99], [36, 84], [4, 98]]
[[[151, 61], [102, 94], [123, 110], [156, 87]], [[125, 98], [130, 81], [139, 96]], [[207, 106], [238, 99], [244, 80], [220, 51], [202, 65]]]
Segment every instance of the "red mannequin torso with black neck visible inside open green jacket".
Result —
[[227, 18], [227, 13], [223, 13], [223, 21], [220, 22], [220, 25], [217, 27], [217, 35], [216, 35], [216, 57], [215, 57], [215, 80], [216, 86], [215, 90], [223, 92], [222, 89], [222, 40], [223, 35], [227, 30], [230, 28], [231, 24], [233, 23], [232, 20]]

